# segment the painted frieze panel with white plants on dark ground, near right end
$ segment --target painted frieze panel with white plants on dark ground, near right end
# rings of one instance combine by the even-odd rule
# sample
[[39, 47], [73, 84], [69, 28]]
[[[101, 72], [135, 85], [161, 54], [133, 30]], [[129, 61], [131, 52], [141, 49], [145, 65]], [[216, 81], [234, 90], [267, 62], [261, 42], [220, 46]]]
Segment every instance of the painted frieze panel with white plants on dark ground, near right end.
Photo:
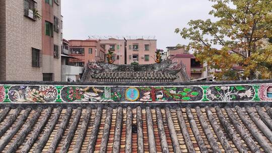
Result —
[[252, 86], [214, 86], [207, 89], [207, 98], [211, 101], [250, 101], [254, 97]]

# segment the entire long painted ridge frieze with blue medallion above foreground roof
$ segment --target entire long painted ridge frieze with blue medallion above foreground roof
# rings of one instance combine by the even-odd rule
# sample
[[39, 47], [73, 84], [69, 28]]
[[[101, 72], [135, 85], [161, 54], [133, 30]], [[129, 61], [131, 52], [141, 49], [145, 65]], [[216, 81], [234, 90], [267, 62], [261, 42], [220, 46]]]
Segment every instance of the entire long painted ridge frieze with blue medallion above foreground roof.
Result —
[[2, 103], [272, 102], [272, 84], [201, 86], [0, 85]]

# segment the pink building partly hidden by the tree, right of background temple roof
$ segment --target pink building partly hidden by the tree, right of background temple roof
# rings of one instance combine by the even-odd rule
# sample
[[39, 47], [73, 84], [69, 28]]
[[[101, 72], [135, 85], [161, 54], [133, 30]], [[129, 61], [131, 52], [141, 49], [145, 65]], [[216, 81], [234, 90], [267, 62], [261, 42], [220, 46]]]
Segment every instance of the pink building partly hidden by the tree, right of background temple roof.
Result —
[[172, 55], [174, 57], [173, 61], [177, 63], [183, 63], [186, 66], [186, 72], [188, 77], [192, 79], [198, 79], [203, 77], [202, 68], [203, 66], [200, 62], [195, 60], [195, 57], [189, 53], [186, 49], [186, 46], [178, 48], [178, 47], [166, 47], [167, 55]]

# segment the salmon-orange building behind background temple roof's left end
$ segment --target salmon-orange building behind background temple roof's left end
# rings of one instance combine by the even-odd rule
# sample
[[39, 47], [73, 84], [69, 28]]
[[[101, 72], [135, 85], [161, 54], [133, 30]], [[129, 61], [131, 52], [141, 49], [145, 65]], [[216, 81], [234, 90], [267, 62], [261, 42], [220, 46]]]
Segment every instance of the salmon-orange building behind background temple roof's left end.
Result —
[[69, 40], [69, 59], [74, 66], [84, 66], [89, 61], [95, 61], [96, 57], [105, 58], [105, 48], [99, 40]]

